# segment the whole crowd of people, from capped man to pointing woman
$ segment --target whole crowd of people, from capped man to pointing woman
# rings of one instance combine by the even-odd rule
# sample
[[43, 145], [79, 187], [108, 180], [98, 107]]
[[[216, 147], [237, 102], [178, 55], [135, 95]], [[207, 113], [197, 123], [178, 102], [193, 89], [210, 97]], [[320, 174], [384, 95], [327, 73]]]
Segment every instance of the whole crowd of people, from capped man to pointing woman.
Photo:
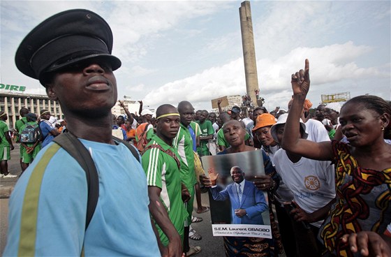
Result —
[[[226, 256], [391, 256], [390, 103], [357, 96], [340, 109], [320, 105], [311, 117], [306, 60], [292, 75], [288, 110], [224, 111], [219, 100], [215, 113], [180, 101], [154, 115], [140, 101], [137, 117], [120, 101], [124, 115], [116, 117], [113, 71], [121, 61], [111, 50], [107, 22], [82, 9], [50, 17], [20, 44], [17, 68], [40, 81], [66, 121], [56, 128], [49, 111], [41, 110], [37, 122], [20, 110], [15, 129], [24, 172], [10, 196], [3, 256], [193, 256], [201, 248], [189, 239], [202, 236], [191, 223], [209, 211], [200, 192], [224, 200], [235, 190], [242, 196], [239, 184], [250, 185], [263, 204], [238, 209], [232, 219], [263, 223], [255, 216], [267, 211], [272, 238], [223, 237]], [[7, 177], [13, 142], [4, 119], [0, 112]], [[54, 142], [67, 134], [92, 159], [89, 173]], [[250, 151], [265, 168], [253, 182], [234, 166], [233, 184], [217, 189], [217, 175], [202, 169], [202, 156]]]

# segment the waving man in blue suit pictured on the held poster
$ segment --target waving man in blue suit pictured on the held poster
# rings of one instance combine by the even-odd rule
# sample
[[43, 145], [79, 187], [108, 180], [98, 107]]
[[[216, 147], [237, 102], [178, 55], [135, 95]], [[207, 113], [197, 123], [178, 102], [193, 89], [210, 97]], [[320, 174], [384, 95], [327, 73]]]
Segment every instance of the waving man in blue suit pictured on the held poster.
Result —
[[239, 166], [233, 166], [230, 175], [233, 183], [220, 191], [216, 186], [219, 173], [209, 173], [213, 199], [221, 201], [230, 199], [233, 209], [231, 223], [263, 225], [262, 212], [268, 208], [263, 191], [256, 189], [253, 182], [244, 179], [244, 172]]

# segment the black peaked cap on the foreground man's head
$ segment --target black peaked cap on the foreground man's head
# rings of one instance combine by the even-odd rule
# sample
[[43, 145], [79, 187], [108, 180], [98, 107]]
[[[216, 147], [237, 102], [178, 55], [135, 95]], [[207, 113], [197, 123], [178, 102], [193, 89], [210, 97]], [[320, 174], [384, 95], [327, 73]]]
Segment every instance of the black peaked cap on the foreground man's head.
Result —
[[22, 73], [36, 79], [91, 58], [105, 59], [115, 71], [121, 61], [111, 52], [108, 23], [91, 10], [74, 9], [38, 24], [17, 48], [15, 64]]

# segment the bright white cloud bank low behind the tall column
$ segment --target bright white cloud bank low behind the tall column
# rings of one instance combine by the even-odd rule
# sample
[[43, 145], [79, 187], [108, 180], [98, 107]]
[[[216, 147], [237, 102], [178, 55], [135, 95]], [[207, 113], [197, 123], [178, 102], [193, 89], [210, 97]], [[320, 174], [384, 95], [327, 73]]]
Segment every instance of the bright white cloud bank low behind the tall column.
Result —
[[[257, 61], [260, 94], [268, 105], [277, 106], [288, 102], [292, 94], [290, 75], [304, 68], [305, 58], [310, 60], [313, 91], [334, 82], [380, 77], [377, 67], [363, 68], [351, 61], [370, 50], [370, 47], [347, 42], [318, 48], [299, 47], [278, 59], [260, 59]], [[204, 101], [210, 106], [209, 100], [212, 98], [246, 94], [243, 71], [243, 59], [239, 58], [229, 64], [208, 68], [202, 73], [154, 89], [145, 96], [145, 102], [158, 106], [162, 103], [176, 104], [182, 100]], [[313, 101], [316, 103], [319, 100]]]

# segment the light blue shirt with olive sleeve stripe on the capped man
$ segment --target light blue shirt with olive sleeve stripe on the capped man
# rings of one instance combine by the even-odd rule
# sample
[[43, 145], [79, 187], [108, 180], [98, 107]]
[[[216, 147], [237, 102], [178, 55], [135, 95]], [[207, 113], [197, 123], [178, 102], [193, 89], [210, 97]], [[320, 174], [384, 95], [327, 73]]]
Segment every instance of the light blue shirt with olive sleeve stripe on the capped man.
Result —
[[[120, 145], [81, 140], [89, 149], [99, 177], [99, 198], [94, 216], [85, 230], [87, 180], [80, 165], [64, 149], [49, 159], [50, 143], [18, 180], [10, 197], [8, 240], [3, 256], [17, 256], [22, 219], [38, 211], [34, 256], [160, 256], [149, 218], [147, 179], [129, 149]], [[37, 164], [49, 161], [46, 168]], [[43, 166], [45, 167], [45, 166]], [[27, 186], [45, 169], [38, 203], [22, 212]], [[22, 235], [21, 235], [22, 233]]]

